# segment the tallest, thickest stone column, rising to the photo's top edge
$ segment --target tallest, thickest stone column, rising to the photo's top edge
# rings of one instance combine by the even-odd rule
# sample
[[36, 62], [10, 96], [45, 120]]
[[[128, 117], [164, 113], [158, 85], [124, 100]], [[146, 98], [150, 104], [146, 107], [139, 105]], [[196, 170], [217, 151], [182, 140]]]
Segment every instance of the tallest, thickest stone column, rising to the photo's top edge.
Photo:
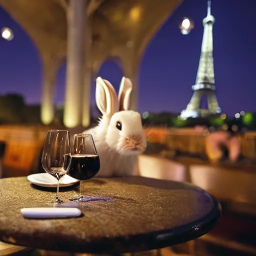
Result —
[[66, 127], [82, 123], [82, 85], [86, 0], [69, 0], [67, 6], [66, 88], [63, 122]]

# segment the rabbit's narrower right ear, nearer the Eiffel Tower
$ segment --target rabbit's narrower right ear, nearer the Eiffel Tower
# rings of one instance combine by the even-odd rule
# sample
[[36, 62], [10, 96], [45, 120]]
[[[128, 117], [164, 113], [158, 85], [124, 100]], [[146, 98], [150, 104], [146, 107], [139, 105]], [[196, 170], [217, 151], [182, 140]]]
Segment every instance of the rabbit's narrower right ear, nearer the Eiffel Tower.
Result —
[[129, 78], [122, 77], [118, 93], [119, 111], [128, 110], [132, 83]]

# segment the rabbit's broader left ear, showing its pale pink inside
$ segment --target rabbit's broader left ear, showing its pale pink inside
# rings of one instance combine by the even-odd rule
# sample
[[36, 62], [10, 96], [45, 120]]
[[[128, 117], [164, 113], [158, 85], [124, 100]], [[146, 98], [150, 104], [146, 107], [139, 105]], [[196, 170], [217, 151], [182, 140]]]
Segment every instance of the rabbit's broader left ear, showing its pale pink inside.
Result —
[[95, 100], [102, 114], [113, 114], [118, 111], [118, 100], [114, 87], [101, 77], [96, 78]]

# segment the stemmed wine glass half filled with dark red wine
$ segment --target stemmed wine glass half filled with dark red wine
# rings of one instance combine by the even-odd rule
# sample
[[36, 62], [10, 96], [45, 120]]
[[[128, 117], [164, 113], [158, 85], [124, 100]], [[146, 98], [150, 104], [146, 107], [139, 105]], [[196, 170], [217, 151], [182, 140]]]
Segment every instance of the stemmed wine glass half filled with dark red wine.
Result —
[[80, 195], [70, 201], [82, 201], [82, 180], [90, 179], [99, 171], [100, 163], [97, 150], [90, 134], [75, 134], [71, 152], [71, 165], [68, 175], [80, 180]]

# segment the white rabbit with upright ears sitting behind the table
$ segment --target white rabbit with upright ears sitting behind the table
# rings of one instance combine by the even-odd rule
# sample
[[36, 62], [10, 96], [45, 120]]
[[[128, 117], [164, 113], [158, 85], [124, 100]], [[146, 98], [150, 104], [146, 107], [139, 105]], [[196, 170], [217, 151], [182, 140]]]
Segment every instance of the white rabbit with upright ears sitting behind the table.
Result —
[[118, 98], [112, 84], [96, 79], [96, 105], [102, 117], [97, 126], [83, 131], [93, 136], [100, 160], [96, 176], [132, 175], [137, 155], [146, 148], [146, 137], [138, 112], [128, 110], [132, 89], [130, 79], [122, 77]]

